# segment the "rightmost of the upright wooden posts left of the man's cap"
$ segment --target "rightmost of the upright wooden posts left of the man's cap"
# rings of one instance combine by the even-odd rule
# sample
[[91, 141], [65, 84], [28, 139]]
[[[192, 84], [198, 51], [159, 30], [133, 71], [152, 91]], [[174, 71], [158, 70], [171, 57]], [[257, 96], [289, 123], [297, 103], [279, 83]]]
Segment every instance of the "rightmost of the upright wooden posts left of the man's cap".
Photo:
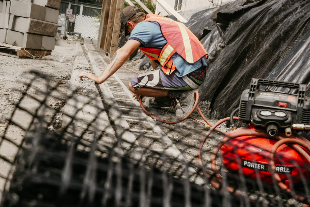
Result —
[[117, 0], [116, 12], [115, 12], [115, 18], [114, 18], [114, 27], [113, 27], [112, 40], [111, 40], [111, 49], [110, 49], [111, 57], [114, 55], [114, 53], [117, 50], [118, 38], [119, 38], [120, 29], [121, 29], [121, 22], [119, 20], [119, 16], [123, 10], [123, 7], [124, 7], [124, 0]]

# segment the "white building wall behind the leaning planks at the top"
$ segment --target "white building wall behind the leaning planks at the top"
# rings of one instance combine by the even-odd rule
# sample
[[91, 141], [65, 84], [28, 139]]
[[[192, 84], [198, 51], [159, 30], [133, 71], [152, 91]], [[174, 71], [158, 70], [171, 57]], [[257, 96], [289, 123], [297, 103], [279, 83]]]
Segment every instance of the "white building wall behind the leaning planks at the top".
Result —
[[[174, 8], [175, 0], [165, 0], [170, 7]], [[189, 20], [191, 16], [201, 10], [212, 8], [212, 7], [220, 7], [228, 2], [232, 2], [233, 0], [213, 0], [213, 4], [208, 0], [183, 0], [182, 9], [179, 11], [179, 14], [182, 15], [186, 20]], [[169, 14], [162, 8], [158, 3], [156, 4], [155, 13], [162, 16], [168, 16]]]

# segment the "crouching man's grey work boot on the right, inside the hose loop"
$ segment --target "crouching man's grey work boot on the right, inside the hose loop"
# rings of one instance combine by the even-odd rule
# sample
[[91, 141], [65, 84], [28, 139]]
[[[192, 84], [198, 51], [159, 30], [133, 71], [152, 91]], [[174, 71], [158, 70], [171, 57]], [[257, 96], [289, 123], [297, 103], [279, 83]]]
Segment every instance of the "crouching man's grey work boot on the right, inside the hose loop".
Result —
[[170, 96], [176, 97], [181, 105], [181, 108], [175, 111], [176, 117], [181, 119], [192, 110], [195, 103], [194, 93], [195, 90], [168, 92]]

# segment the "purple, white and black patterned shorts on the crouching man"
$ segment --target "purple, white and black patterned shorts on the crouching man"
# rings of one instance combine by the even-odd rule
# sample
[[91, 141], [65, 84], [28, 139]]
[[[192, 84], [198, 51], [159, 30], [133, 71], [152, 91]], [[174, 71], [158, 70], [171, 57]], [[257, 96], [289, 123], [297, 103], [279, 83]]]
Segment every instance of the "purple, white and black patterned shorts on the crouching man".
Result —
[[[160, 65], [161, 66], [161, 65]], [[165, 90], [190, 90], [198, 88], [206, 78], [206, 66], [202, 66], [183, 77], [176, 76], [175, 72], [166, 75], [160, 66], [131, 78], [131, 85], [137, 90], [142, 87]]]

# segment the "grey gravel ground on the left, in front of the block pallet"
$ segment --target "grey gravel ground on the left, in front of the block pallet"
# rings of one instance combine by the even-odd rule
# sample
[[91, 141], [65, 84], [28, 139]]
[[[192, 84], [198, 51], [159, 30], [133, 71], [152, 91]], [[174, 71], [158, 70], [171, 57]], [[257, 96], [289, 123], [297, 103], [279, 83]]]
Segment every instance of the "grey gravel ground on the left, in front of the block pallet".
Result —
[[[47, 105], [55, 110], [59, 110], [60, 113], [57, 114], [54, 120], [53, 128], [58, 128], [61, 126], [61, 108], [63, 106], [61, 99], [64, 98], [64, 94], [67, 94], [67, 86], [69, 84], [72, 64], [75, 52], [75, 42], [60, 40], [56, 42], [55, 50], [52, 51], [54, 56], [64, 56], [66, 62], [58, 62], [53, 60], [41, 60], [41, 59], [18, 59], [9, 56], [0, 56], [0, 137], [3, 136], [5, 129], [6, 136], [17, 146], [21, 144], [23, 137], [25, 136], [24, 131], [14, 125], [8, 125], [7, 119], [9, 119], [15, 109], [15, 104], [19, 101], [22, 91], [26, 89], [28, 83], [33, 80], [34, 75], [29, 74], [29, 71], [38, 71], [39, 73], [46, 74], [52, 77], [51, 86], [55, 85], [55, 80], [60, 82], [58, 94], [60, 99], [48, 99]], [[44, 89], [45, 83], [43, 79], [33, 80], [33, 87], [29, 88], [29, 96], [41, 98], [41, 95], [37, 89]], [[23, 100], [21, 103], [25, 109], [33, 111], [40, 104], [38, 101], [33, 99]], [[49, 116], [51, 114], [50, 110], [45, 111], [45, 114]], [[32, 117], [22, 110], [15, 110], [13, 119], [20, 126], [27, 128], [32, 120]], [[1, 140], [0, 140], [1, 141]], [[3, 156], [9, 161], [14, 161], [18, 147], [4, 140], [0, 145], [0, 156]], [[10, 163], [0, 159], [0, 175], [3, 177], [11, 176], [9, 175]], [[5, 182], [4, 178], [0, 178], [0, 191], [3, 190], [3, 184]], [[0, 194], [1, 198], [1, 194]]]

